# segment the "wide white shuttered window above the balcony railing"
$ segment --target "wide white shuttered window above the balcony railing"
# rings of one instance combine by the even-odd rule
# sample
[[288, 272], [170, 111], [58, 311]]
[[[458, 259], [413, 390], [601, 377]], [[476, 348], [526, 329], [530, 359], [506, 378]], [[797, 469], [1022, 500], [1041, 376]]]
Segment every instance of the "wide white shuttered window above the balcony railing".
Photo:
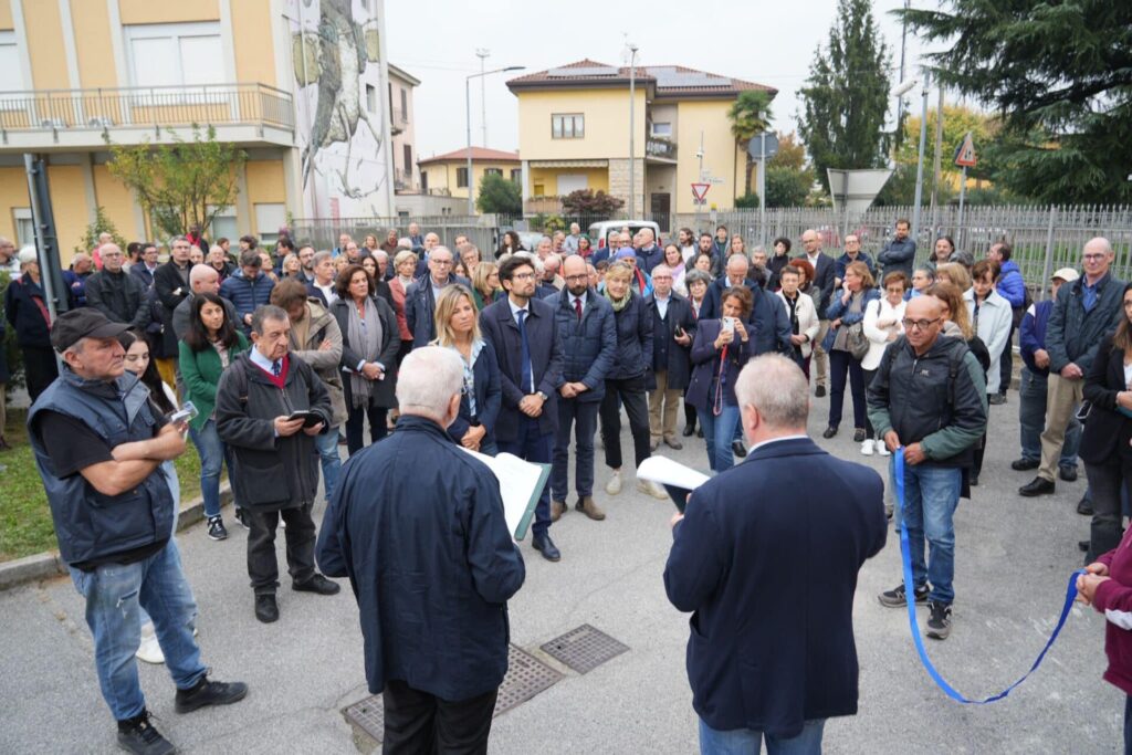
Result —
[[126, 26], [134, 86], [224, 84], [220, 23]]

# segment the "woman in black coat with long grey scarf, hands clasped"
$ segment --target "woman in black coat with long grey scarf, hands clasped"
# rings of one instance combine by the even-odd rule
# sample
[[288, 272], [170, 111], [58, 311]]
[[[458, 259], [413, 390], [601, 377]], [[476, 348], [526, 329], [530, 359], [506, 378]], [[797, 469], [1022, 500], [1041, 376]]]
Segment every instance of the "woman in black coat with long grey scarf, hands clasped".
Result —
[[366, 445], [362, 429], [369, 418], [370, 441], [388, 430], [391, 407], [397, 405], [397, 350], [401, 334], [393, 308], [374, 293], [374, 278], [361, 265], [348, 265], [338, 275], [338, 300], [331, 314], [342, 331], [342, 386], [346, 402], [346, 448], [353, 456]]

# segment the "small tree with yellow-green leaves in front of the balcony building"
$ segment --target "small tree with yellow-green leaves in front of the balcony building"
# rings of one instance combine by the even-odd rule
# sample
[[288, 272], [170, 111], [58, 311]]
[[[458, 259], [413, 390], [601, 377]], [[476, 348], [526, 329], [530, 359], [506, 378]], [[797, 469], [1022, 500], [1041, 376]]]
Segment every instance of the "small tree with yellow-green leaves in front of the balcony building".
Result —
[[171, 145], [111, 144], [106, 168], [137, 195], [156, 230], [180, 235], [198, 225], [207, 233], [213, 220], [235, 204], [237, 175], [247, 153], [234, 144], [216, 141], [212, 126], [201, 138], [194, 123], [192, 141], [172, 134]]

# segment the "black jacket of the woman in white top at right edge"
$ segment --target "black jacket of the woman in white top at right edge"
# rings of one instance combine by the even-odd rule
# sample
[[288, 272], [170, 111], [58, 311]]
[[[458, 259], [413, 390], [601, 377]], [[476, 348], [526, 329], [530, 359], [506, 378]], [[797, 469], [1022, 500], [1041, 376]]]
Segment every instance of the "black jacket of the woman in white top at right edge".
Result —
[[1132, 419], [1116, 407], [1116, 394], [1127, 391], [1124, 383], [1124, 351], [1113, 348], [1113, 336], [1105, 336], [1097, 359], [1084, 376], [1084, 400], [1092, 403], [1078, 452], [1086, 464], [1104, 464], [1114, 455], [1132, 466]]

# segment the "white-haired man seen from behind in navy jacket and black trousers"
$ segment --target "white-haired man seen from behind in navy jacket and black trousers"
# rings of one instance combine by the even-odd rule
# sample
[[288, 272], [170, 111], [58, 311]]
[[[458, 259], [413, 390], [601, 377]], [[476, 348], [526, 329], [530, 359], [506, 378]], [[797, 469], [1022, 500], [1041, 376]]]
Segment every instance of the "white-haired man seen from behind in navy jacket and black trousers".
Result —
[[507, 600], [526, 572], [495, 475], [445, 430], [463, 384], [451, 350], [405, 357], [397, 431], [343, 465], [318, 537], [323, 570], [358, 600], [386, 752], [487, 752], [507, 671]]

